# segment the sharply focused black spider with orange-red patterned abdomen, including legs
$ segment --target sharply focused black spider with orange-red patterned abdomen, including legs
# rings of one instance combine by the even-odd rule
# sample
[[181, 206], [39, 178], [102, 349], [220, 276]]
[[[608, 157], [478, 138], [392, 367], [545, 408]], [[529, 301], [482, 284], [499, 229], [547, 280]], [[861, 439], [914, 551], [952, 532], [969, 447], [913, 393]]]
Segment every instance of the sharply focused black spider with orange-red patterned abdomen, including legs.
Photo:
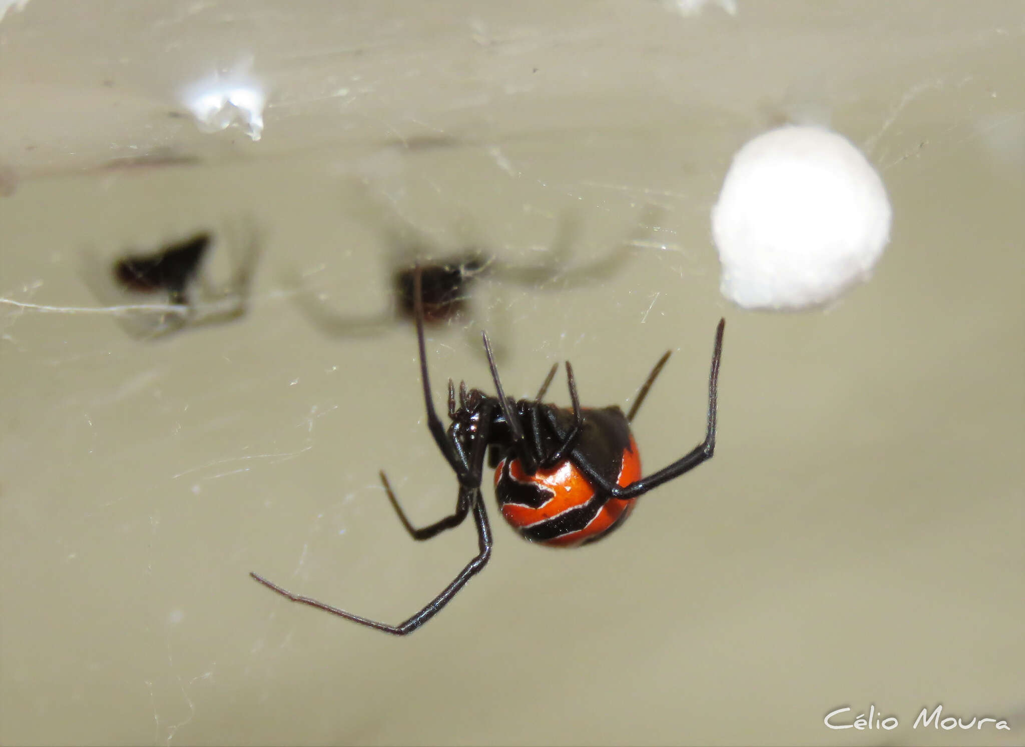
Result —
[[573, 403], [569, 410], [541, 403], [559, 364], [551, 367], [534, 399], [517, 402], [506, 398], [498, 378], [491, 342], [484, 333], [484, 348], [497, 397], [488, 396], [480, 389], [467, 391], [465, 382], [461, 382], [457, 408], [455, 386], [449, 379], [448, 414], [452, 424], [446, 430], [435, 411], [430, 395], [423, 335], [422, 275], [422, 268], [418, 267], [414, 275], [414, 299], [420, 379], [427, 428], [459, 482], [455, 511], [417, 529], [409, 523], [399, 505], [384, 472], [380, 473], [380, 478], [399, 520], [413, 539], [429, 539], [452, 529], [473, 511], [478, 554], [426, 607], [399, 625], [370, 620], [310, 596], [292, 593], [262, 576], [250, 573], [256, 581], [292, 601], [300, 601], [394, 635], [407, 635], [437, 615], [488, 563], [491, 556], [491, 527], [481, 495], [486, 455], [489, 456], [489, 465], [497, 467], [495, 493], [502, 515], [526, 539], [557, 546], [585, 544], [606, 536], [625, 520], [640, 496], [710, 459], [715, 450], [715, 402], [726, 326], [726, 320], [720, 320], [715, 330], [704, 441], [668, 466], [642, 478], [641, 459], [629, 423], [668, 360], [669, 351], [655, 364], [626, 415], [617, 406], [581, 408], [573, 368], [567, 361], [566, 375]]

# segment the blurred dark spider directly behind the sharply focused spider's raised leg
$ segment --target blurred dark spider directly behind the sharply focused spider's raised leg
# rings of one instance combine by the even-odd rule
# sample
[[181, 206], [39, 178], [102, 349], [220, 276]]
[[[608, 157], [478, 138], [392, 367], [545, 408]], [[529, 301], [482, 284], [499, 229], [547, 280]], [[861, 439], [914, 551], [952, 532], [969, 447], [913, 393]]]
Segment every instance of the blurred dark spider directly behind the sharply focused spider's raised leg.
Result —
[[[516, 264], [491, 256], [482, 250], [483, 242], [473, 238], [474, 232], [465, 221], [457, 225], [462, 241], [461, 250], [451, 251], [440, 246], [428, 233], [413, 225], [394, 209], [382, 206], [369, 197], [363, 198], [369, 208], [361, 215], [376, 215], [388, 247], [389, 294], [380, 312], [370, 314], [343, 314], [330, 307], [323, 297], [301, 288], [295, 300], [313, 324], [326, 334], [335, 336], [368, 336], [380, 334], [396, 324], [412, 324], [414, 320], [413, 277], [419, 263], [423, 283], [423, 321], [427, 325], [454, 324], [465, 320], [465, 332], [479, 336], [478, 327], [487, 322], [489, 328], [503, 327], [500, 320], [487, 319], [473, 306], [474, 286], [478, 280], [489, 280], [529, 286], [538, 290], [564, 290], [612, 277], [631, 256], [632, 249], [652, 231], [660, 210], [647, 206], [634, 221], [632, 231], [613, 248], [593, 261], [567, 267], [566, 260], [574, 238], [579, 233], [575, 213], [565, 212], [559, 219], [556, 235], [543, 253], [543, 259], [534, 264]], [[497, 295], [497, 291], [495, 291]], [[488, 304], [491, 309], [505, 306], [499, 298]], [[501, 335], [508, 338], [506, 332]], [[476, 348], [476, 345], [475, 345]], [[502, 357], [496, 350], [496, 357]]]

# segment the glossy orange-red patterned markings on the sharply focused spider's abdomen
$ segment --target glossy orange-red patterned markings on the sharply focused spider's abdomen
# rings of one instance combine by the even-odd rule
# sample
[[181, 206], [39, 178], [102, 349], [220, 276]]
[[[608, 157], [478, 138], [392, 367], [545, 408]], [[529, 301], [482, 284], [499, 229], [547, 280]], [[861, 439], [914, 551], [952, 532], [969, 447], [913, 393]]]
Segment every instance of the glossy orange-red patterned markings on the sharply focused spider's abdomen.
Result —
[[[630, 438], [616, 483], [625, 488], [640, 479], [641, 455]], [[612, 498], [596, 507], [594, 489], [569, 460], [528, 475], [519, 459], [503, 459], [495, 470], [495, 494], [514, 529], [528, 540], [555, 547], [601, 539], [629, 515], [634, 502]]]

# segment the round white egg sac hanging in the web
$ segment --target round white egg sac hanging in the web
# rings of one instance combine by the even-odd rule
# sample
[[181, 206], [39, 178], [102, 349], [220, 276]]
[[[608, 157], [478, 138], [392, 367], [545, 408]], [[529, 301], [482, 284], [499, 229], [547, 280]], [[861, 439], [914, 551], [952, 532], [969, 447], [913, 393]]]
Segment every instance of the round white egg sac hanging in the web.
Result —
[[733, 157], [711, 211], [720, 289], [751, 309], [801, 309], [866, 280], [890, 241], [878, 173], [835, 132], [787, 126]]

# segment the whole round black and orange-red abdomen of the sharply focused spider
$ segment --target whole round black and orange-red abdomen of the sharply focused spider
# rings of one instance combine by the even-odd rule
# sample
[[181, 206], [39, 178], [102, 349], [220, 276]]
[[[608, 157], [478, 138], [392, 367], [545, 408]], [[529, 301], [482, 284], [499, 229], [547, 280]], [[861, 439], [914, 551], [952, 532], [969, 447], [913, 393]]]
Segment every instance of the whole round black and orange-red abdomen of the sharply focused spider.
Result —
[[[585, 412], [584, 430], [574, 452], [590, 457], [603, 476], [620, 487], [640, 480], [641, 455], [619, 408]], [[609, 439], [610, 428], [619, 438]], [[588, 447], [596, 444], [599, 434], [605, 438], [598, 443], [606, 448], [597, 450], [601, 461], [596, 463], [596, 450]], [[622, 446], [609, 453], [610, 442]], [[576, 547], [605, 537], [625, 521], [634, 502], [619, 498], [603, 501], [571, 459], [527, 474], [518, 458], [506, 456], [495, 470], [495, 495], [505, 521], [525, 539], [556, 547]]]

